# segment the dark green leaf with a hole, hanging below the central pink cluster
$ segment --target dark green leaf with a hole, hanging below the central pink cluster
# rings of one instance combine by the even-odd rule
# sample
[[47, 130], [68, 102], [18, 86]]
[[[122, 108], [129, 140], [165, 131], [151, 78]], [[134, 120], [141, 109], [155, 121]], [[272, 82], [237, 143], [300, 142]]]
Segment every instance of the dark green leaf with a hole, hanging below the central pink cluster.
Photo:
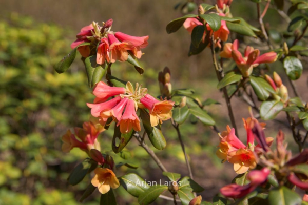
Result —
[[[134, 131], [131, 130], [129, 133], [127, 134], [122, 134], [120, 132], [120, 126], [118, 127], [117, 124], [114, 124], [114, 133], [113, 133], [113, 138], [112, 138], [112, 150], [114, 153], [119, 153], [121, 152], [125, 146], [127, 145], [127, 143], [130, 141], [130, 139], [132, 138], [134, 134]], [[119, 145], [115, 145], [115, 139], [119, 138]]]

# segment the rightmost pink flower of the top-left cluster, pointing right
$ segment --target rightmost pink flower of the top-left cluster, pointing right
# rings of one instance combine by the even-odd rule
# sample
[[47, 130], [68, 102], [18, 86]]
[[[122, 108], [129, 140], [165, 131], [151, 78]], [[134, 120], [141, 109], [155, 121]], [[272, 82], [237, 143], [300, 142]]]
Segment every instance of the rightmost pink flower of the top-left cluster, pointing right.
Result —
[[142, 52], [141, 49], [147, 47], [149, 36], [131, 36], [122, 32], [115, 32], [114, 36], [117, 37], [121, 42], [127, 43], [128, 47], [126, 50], [131, 50], [137, 58], [141, 58]]

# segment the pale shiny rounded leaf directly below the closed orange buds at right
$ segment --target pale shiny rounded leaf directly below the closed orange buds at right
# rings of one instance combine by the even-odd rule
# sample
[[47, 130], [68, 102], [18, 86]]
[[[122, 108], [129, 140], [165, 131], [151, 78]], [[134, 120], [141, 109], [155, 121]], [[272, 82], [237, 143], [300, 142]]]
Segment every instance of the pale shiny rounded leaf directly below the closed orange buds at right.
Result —
[[264, 120], [274, 119], [283, 109], [283, 103], [279, 100], [264, 101], [260, 107], [260, 116]]

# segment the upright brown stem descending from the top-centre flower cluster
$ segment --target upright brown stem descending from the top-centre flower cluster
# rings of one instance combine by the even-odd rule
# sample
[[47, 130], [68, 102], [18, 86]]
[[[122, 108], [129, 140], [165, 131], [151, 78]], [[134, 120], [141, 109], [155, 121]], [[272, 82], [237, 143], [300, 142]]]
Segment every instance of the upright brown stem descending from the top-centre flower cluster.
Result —
[[[220, 67], [220, 65], [217, 63], [217, 60], [216, 60], [216, 54], [215, 54], [215, 48], [214, 48], [214, 45], [215, 45], [214, 44], [214, 35], [211, 35], [210, 40], [211, 40], [210, 49], [211, 49], [211, 54], [212, 54], [212, 57], [213, 57], [213, 64], [214, 64], [214, 67], [215, 67], [215, 71], [216, 71], [218, 81], [220, 81], [223, 78], [224, 73], [223, 73], [222, 67]], [[222, 91], [223, 91], [223, 94], [225, 96], [225, 100], [226, 100], [226, 104], [227, 104], [227, 108], [228, 108], [228, 113], [229, 113], [229, 118], [231, 120], [232, 127], [235, 129], [235, 134], [238, 136], [235, 118], [234, 118], [230, 98], [228, 96], [228, 92], [227, 92], [226, 87], [223, 87]]]

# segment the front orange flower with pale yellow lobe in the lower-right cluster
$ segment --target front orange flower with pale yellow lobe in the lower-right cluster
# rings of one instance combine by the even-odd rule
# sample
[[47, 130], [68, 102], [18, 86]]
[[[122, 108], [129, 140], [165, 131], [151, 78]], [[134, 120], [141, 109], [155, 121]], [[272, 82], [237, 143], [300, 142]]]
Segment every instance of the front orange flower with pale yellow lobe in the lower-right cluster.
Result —
[[232, 157], [228, 161], [234, 164], [233, 168], [237, 174], [243, 174], [257, 166], [256, 157], [251, 150], [240, 148], [238, 151], [229, 154]]

